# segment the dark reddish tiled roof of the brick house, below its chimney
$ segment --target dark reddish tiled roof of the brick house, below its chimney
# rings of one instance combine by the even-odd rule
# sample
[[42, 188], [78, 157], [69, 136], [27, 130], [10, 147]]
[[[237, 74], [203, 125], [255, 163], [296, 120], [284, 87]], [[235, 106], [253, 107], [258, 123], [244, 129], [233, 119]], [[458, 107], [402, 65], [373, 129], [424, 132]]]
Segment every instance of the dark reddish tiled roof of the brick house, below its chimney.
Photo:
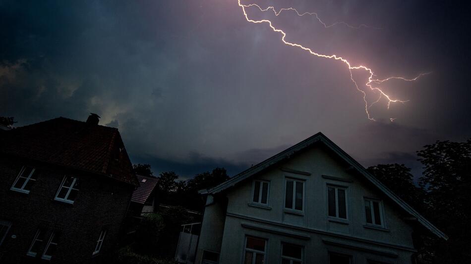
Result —
[[118, 129], [68, 118], [3, 131], [0, 153], [66, 166], [137, 185]]

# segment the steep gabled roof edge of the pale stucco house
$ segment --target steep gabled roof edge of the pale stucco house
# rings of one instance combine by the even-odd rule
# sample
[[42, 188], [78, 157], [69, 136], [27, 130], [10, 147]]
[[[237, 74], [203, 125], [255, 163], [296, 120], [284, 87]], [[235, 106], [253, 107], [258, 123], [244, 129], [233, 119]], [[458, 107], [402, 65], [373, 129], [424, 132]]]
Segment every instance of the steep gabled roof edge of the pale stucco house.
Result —
[[408, 205], [405, 201], [403, 201], [399, 196], [393, 193], [390, 189], [388, 189], [381, 181], [376, 179], [373, 175], [368, 173], [366, 169], [361, 166], [357, 161], [355, 161], [349, 154], [343, 151], [339, 146], [337, 146], [334, 142], [332, 142], [327, 136], [323, 133], [318, 132], [317, 134], [295, 144], [294, 146], [276, 154], [275, 156], [266, 159], [265, 161], [260, 162], [259, 164], [250, 167], [249, 169], [241, 172], [240, 174], [232, 177], [231, 179], [207, 190], [201, 190], [199, 193], [201, 194], [216, 194], [222, 192], [230, 187], [235, 186], [238, 182], [254, 176], [257, 173], [264, 171], [265, 169], [272, 167], [279, 162], [286, 160], [293, 156], [294, 154], [306, 149], [309, 146], [312, 146], [314, 143], [322, 143], [331, 149], [335, 154], [337, 154], [341, 159], [347, 162], [350, 166], [353, 167], [357, 172], [359, 172], [362, 176], [364, 176], [368, 181], [370, 181], [373, 185], [378, 187], [386, 196], [391, 198], [395, 203], [397, 203], [402, 209], [406, 212], [411, 214], [415, 217], [423, 226], [429, 229], [432, 233], [441, 237], [445, 240], [448, 239], [448, 236], [440, 231], [437, 227], [435, 227], [432, 223], [426, 220], [423, 216], [421, 216], [417, 211], [415, 211], [410, 205]]

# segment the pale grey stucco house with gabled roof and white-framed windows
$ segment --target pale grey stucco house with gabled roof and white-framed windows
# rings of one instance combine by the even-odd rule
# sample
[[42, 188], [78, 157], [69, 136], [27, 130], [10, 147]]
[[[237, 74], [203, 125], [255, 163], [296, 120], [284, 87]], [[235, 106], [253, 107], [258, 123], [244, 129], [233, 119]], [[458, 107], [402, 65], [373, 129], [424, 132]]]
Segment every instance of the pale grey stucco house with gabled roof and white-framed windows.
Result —
[[416, 228], [447, 239], [322, 133], [200, 193], [196, 264], [412, 264]]

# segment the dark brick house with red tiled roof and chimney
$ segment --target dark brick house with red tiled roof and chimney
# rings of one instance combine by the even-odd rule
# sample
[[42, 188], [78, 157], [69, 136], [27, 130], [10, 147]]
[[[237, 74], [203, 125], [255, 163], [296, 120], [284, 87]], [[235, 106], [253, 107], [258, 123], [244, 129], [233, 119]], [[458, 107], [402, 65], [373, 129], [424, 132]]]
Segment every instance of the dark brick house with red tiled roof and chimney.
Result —
[[138, 182], [98, 118], [0, 131], [0, 263], [100, 263], [116, 245]]

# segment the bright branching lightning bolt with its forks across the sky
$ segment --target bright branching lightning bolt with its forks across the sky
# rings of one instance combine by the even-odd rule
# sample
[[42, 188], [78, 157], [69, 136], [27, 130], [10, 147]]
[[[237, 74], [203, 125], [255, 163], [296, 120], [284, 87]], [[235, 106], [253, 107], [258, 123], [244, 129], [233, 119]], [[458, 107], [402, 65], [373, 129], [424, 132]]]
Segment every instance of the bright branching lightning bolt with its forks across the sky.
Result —
[[[344, 24], [350, 28], [360, 28], [360, 27], [368, 27], [364, 24], [358, 26], [358, 27], [353, 27], [345, 22], [336, 22], [334, 24], [331, 24], [331, 25], [327, 25], [326, 23], [324, 23], [320, 18], [319, 16], [317, 15], [317, 13], [309, 13], [309, 12], [304, 12], [304, 13], [300, 13], [298, 12], [295, 8], [293, 7], [290, 7], [290, 8], [281, 8], [278, 12], [276, 11], [275, 7], [273, 6], [269, 6], [267, 8], [261, 8], [258, 4], [242, 4], [240, 2], [240, 0], [237, 0], [237, 3], [238, 3], [238, 6], [242, 9], [242, 12], [243, 12], [243, 15], [245, 17], [245, 20], [247, 20], [247, 22], [250, 22], [250, 23], [254, 23], [254, 24], [267, 24], [274, 32], [276, 33], [279, 33], [281, 34], [281, 41], [286, 44], [286, 45], [289, 45], [289, 46], [293, 46], [293, 47], [297, 47], [297, 48], [300, 48], [300, 49], [303, 49], [307, 52], [309, 52], [310, 55], [313, 55], [313, 56], [317, 56], [317, 57], [321, 57], [321, 58], [326, 58], [326, 59], [334, 59], [334, 60], [338, 60], [338, 61], [341, 61], [343, 62], [349, 69], [349, 73], [350, 73], [350, 79], [352, 80], [355, 88], [363, 93], [363, 101], [365, 103], [365, 113], [366, 113], [366, 116], [369, 120], [371, 121], [376, 121], [370, 114], [370, 112], [368, 111], [368, 109], [375, 103], [379, 102], [381, 98], [386, 98], [386, 100], [388, 101], [387, 102], [387, 109], [389, 109], [389, 107], [391, 106], [391, 103], [406, 103], [408, 102], [409, 100], [400, 100], [400, 99], [392, 99], [391, 96], [389, 96], [387, 93], [385, 93], [380, 87], [378, 87], [377, 85], [380, 85], [382, 83], [385, 83], [385, 82], [388, 82], [390, 80], [402, 80], [402, 81], [405, 81], [405, 82], [413, 82], [415, 80], [417, 80], [418, 78], [424, 76], [424, 75], [427, 75], [427, 74], [430, 74], [430, 73], [421, 73], [417, 76], [415, 76], [414, 78], [411, 78], [411, 79], [407, 79], [405, 77], [398, 77], [398, 76], [392, 76], [392, 77], [388, 77], [388, 78], [385, 78], [385, 79], [375, 79], [376, 75], [374, 74], [373, 70], [364, 66], [364, 65], [352, 65], [347, 59], [341, 57], [341, 56], [338, 56], [336, 54], [332, 54], [332, 55], [325, 55], [325, 54], [321, 54], [321, 53], [317, 53], [315, 51], [313, 51], [311, 48], [309, 47], [305, 47], [301, 44], [296, 44], [296, 43], [292, 43], [292, 42], [289, 42], [286, 40], [286, 36], [287, 34], [281, 30], [281, 29], [278, 29], [276, 28], [275, 26], [273, 26], [273, 23], [271, 20], [268, 20], [268, 19], [261, 19], [261, 20], [253, 20], [251, 18], [248, 17], [248, 14], [245, 10], [245, 8], [249, 8], [249, 7], [257, 7], [260, 11], [268, 11], [268, 10], [272, 10], [276, 16], [278, 16], [282, 11], [294, 11], [296, 12], [296, 14], [298, 16], [303, 16], [303, 15], [313, 15], [317, 18], [317, 20], [322, 24], [324, 25], [325, 28], [329, 28], [329, 27], [332, 27], [332, 26], [335, 26], [335, 25], [338, 25], [338, 24]], [[355, 81], [355, 79], [353, 78], [353, 71], [356, 71], [356, 70], [360, 70], [360, 71], [364, 71], [366, 72], [369, 76], [368, 76], [368, 79], [366, 81], [366, 83], [364, 84], [365, 87], [368, 87], [370, 88], [373, 92], [376, 92], [376, 93], [379, 93], [379, 97], [376, 101], [374, 101], [373, 103], [369, 104], [368, 105], [368, 101], [366, 100], [366, 92], [362, 89], [360, 89], [360, 87], [358, 86], [358, 83]], [[396, 120], [396, 118], [390, 118], [390, 121], [393, 122], [394, 120]]]

